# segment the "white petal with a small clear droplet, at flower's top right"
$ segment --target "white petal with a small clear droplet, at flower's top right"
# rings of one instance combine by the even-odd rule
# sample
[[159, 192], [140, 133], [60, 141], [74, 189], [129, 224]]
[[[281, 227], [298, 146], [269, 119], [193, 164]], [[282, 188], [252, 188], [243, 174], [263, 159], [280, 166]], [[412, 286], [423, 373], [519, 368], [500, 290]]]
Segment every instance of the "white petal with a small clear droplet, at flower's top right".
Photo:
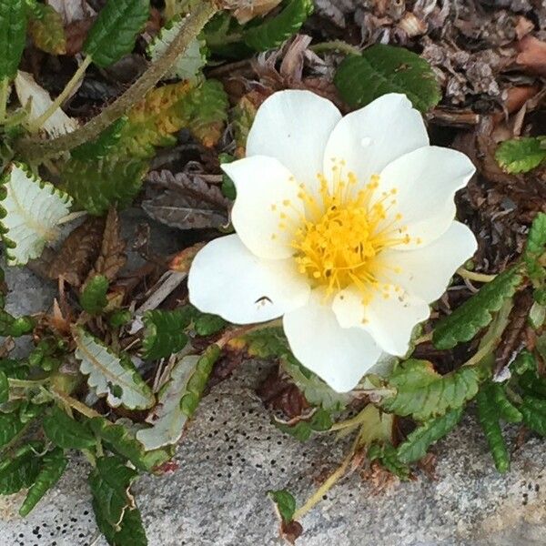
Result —
[[332, 158], [343, 159], [367, 184], [397, 157], [428, 144], [420, 113], [405, 95], [390, 93], [341, 119], [326, 146], [324, 173], [328, 176]]

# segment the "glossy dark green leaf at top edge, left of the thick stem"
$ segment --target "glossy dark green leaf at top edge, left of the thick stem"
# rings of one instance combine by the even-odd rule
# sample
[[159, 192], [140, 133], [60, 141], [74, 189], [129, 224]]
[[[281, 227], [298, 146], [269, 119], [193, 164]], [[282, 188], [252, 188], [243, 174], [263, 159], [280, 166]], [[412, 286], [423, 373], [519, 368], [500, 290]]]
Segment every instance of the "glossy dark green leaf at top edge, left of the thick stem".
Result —
[[149, 0], [108, 0], [100, 10], [83, 52], [101, 68], [131, 53], [150, 14]]

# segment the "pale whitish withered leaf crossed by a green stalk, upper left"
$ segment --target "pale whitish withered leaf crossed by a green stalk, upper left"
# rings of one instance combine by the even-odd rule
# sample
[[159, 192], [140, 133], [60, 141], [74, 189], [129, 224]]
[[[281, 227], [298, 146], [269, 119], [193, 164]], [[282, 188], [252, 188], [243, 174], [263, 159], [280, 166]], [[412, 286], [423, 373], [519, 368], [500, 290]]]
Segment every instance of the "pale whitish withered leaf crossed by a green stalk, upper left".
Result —
[[[28, 111], [27, 122], [32, 123], [53, 105], [53, 100], [45, 89], [39, 86], [32, 74], [19, 70], [15, 77], [15, 92], [21, 105]], [[47, 118], [42, 127], [48, 136], [61, 136], [75, 131], [79, 126], [76, 119], [66, 116], [61, 108]]]

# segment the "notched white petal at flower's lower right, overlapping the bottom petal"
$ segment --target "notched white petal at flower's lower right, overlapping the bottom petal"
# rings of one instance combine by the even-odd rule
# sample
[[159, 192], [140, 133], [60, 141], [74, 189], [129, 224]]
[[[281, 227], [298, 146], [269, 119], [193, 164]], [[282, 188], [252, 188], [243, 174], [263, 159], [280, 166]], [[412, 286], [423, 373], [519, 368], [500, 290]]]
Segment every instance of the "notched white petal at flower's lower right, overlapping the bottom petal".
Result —
[[357, 288], [341, 290], [332, 308], [344, 328], [359, 327], [369, 332], [381, 349], [390, 355], [404, 356], [410, 347], [411, 331], [429, 318], [429, 305], [407, 292], [385, 286], [388, 298], [377, 292], [367, 305]]

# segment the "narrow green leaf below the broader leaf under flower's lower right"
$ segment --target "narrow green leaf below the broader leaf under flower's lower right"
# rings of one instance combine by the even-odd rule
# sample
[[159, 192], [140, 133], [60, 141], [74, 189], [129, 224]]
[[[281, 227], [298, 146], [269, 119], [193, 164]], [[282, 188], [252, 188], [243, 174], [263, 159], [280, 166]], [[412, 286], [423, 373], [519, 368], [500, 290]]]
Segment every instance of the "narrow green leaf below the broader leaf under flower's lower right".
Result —
[[397, 449], [399, 460], [409, 464], [422, 459], [433, 443], [455, 428], [460, 421], [462, 411], [462, 408], [450, 410], [441, 417], [427, 421], [410, 432], [408, 438]]

